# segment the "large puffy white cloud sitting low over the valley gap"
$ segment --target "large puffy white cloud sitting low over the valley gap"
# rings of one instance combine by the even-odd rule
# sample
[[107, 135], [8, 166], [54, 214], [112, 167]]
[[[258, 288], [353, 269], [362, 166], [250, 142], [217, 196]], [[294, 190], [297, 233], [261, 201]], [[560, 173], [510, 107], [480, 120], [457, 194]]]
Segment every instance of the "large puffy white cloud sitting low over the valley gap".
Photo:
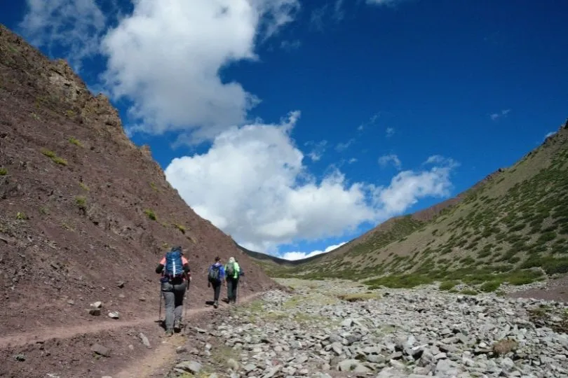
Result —
[[290, 137], [298, 116], [231, 127], [207, 153], [172, 160], [165, 176], [203, 218], [246, 248], [269, 253], [279, 244], [340, 237], [419, 198], [448, 195], [453, 167], [447, 164], [400, 172], [387, 187], [349, 183], [338, 169], [316, 180]]

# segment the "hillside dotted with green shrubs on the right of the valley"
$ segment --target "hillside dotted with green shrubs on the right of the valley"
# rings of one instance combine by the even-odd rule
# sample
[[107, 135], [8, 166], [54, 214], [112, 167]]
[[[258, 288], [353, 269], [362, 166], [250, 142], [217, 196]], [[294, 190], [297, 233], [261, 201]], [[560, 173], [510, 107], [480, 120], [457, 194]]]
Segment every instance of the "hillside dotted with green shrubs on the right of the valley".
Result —
[[568, 272], [568, 125], [513, 167], [428, 216], [393, 218], [319, 258], [269, 260], [271, 276], [527, 283]]

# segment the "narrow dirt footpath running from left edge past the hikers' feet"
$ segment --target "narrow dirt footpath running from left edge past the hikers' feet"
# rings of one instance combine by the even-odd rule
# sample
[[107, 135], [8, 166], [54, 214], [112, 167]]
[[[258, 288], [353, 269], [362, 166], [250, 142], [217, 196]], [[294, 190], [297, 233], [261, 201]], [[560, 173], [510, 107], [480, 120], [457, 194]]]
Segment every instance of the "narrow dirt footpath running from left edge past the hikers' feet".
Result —
[[[248, 295], [241, 299], [241, 303], [249, 302], [254, 297], [262, 293]], [[203, 312], [213, 311], [213, 307], [200, 307], [197, 309], [187, 309], [184, 318], [189, 318]], [[52, 327], [44, 329], [35, 329], [28, 332], [14, 332], [12, 335], [0, 337], [0, 349], [12, 348], [15, 346], [25, 346], [26, 344], [34, 344], [36, 342], [46, 342], [49, 339], [69, 339], [79, 335], [88, 335], [90, 333], [98, 333], [105, 330], [116, 330], [123, 327], [132, 327], [136, 325], [147, 325], [156, 323], [156, 316], [138, 318], [132, 321], [111, 320], [99, 321], [97, 323], [85, 323], [79, 325]]]

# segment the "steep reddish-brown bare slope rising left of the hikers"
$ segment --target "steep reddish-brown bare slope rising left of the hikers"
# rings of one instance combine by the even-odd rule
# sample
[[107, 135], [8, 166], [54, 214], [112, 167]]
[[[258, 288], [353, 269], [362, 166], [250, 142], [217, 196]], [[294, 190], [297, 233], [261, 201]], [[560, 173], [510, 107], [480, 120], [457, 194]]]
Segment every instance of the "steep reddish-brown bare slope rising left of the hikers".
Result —
[[2, 25], [0, 103], [1, 335], [97, 321], [86, 310], [99, 300], [101, 318], [157, 318], [154, 269], [174, 245], [193, 272], [191, 307], [212, 295], [215, 255], [243, 265], [243, 295], [276, 285], [185, 204], [106, 97]]

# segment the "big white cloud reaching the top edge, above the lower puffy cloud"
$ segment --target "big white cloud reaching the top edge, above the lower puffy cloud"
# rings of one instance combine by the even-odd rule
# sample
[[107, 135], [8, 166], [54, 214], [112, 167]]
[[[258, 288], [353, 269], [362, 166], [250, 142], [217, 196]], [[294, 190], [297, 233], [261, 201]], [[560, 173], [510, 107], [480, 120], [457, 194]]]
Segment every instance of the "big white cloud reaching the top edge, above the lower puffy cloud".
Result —
[[260, 100], [219, 70], [257, 60], [258, 41], [297, 10], [297, 0], [135, 1], [102, 40], [107, 86], [135, 104], [129, 133], [182, 131], [180, 140], [197, 143], [244, 123]]

